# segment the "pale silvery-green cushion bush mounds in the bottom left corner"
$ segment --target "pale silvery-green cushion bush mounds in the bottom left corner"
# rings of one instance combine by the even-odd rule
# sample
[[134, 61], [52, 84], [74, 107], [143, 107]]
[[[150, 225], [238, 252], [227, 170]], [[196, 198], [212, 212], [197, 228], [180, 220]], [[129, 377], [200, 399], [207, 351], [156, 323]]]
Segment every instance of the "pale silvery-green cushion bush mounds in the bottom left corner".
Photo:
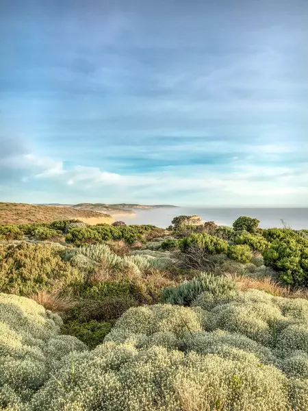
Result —
[[[50, 377], [58, 361], [86, 345], [60, 336], [62, 320], [35, 301], [0, 293], [0, 404], [27, 410], [27, 401]], [[4, 395], [3, 395], [4, 393]], [[5, 395], [7, 393], [7, 395]]]

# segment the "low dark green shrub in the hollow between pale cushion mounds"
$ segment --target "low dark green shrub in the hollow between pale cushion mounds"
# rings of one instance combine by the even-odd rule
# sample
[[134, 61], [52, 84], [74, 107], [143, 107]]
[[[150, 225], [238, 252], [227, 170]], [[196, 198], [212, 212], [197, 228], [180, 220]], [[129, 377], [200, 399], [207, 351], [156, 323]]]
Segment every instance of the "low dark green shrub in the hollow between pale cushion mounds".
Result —
[[97, 320], [90, 320], [86, 323], [80, 323], [77, 320], [68, 321], [62, 327], [63, 334], [75, 336], [89, 348], [97, 347], [103, 343], [105, 336], [111, 331], [110, 323], [101, 323]]

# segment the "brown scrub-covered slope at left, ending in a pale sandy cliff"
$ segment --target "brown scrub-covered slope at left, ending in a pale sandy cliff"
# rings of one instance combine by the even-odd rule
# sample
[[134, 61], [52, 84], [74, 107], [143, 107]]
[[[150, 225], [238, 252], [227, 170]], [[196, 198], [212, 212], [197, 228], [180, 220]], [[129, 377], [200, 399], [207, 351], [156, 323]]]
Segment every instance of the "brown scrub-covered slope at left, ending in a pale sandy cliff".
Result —
[[111, 224], [109, 214], [70, 207], [34, 206], [23, 203], [0, 203], [0, 224], [51, 223], [55, 220], [78, 219], [90, 225]]

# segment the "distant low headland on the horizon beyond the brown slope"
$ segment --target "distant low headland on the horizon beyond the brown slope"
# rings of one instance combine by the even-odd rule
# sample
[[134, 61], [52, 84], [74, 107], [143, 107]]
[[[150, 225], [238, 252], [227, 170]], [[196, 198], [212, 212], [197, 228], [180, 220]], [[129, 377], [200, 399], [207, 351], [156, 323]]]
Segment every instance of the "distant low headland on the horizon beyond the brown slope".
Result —
[[120, 215], [120, 214], [136, 214], [134, 209], [138, 210], [153, 210], [153, 208], [170, 208], [176, 206], [169, 206], [169, 205], [155, 205], [155, 206], [144, 206], [142, 204], [105, 204], [105, 203], [80, 203], [72, 206], [72, 208], [77, 208], [78, 210], [92, 210], [96, 212], [107, 212], [108, 214], [112, 215]]

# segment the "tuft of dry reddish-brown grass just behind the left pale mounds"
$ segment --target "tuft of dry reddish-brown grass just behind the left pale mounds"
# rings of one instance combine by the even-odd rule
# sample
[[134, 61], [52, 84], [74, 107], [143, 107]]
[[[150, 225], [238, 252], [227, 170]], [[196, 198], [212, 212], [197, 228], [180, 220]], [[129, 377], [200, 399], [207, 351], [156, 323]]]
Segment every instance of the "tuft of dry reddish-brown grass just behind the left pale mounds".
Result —
[[75, 305], [75, 299], [58, 292], [38, 291], [28, 296], [43, 306], [46, 310], [62, 314]]

